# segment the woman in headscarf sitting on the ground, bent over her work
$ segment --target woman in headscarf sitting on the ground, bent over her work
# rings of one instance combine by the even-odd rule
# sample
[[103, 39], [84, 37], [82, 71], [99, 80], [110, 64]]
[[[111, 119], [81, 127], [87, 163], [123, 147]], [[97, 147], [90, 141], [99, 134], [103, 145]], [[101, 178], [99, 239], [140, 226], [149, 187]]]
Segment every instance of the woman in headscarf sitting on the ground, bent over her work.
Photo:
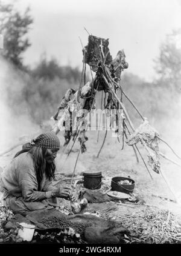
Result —
[[48, 209], [56, 206], [57, 198], [68, 198], [69, 187], [55, 188], [54, 180], [57, 151], [60, 141], [54, 132], [43, 133], [17, 152], [1, 176], [3, 203], [14, 214]]

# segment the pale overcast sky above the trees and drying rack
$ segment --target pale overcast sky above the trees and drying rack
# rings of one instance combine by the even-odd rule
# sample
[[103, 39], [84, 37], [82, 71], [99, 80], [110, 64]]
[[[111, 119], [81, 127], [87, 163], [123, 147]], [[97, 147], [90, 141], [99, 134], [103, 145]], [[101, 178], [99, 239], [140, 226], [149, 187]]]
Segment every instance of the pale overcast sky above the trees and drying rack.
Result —
[[34, 24], [29, 33], [31, 47], [25, 64], [33, 66], [43, 52], [60, 64], [82, 66], [80, 36], [87, 32], [109, 38], [114, 57], [124, 49], [129, 72], [147, 80], [154, 76], [153, 59], [173, 29], [181, 27], [179, 0], [19, 0], [16, 7], [30, 6]]

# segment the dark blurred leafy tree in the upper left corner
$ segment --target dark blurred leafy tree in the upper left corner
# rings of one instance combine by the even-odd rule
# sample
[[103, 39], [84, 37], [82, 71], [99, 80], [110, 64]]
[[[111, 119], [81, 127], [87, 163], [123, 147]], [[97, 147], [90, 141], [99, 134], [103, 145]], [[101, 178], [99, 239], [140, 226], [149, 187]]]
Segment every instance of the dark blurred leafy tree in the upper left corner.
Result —
[[15, 66], [22, 68], [22, 53], [31, 45], [29, 39], [25, 38], [33, 23], [30, 8], [21, 14], [15, 10], [13, 4], [5, 5], [0, 1], [0, 14], [0, 31], [4, 36], [4, 49], [1, 54]]

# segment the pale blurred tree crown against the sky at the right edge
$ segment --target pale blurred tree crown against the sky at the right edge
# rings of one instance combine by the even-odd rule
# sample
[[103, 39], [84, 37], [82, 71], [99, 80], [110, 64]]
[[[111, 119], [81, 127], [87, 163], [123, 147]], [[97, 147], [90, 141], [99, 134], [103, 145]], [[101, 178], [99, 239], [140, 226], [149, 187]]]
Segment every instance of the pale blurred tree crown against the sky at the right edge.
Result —
[[160, 46], [159, 58], [156, 59], [157, 83], [173, 90], [180, 90], [181, 82], [181, 46], [179, 44], [181, 30], [174, 30], [167, 35], [165, 42]]

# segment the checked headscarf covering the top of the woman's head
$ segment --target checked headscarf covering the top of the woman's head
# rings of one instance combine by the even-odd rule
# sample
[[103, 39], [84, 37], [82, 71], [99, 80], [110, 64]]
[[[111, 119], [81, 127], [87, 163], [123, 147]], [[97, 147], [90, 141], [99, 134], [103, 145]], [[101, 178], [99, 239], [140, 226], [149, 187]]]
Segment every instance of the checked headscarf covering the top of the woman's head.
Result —
[[60, 141], [55, 132], [45, 132], [31, 141], [31, 146], [42, 147], [44, 149], [60, 149]]

